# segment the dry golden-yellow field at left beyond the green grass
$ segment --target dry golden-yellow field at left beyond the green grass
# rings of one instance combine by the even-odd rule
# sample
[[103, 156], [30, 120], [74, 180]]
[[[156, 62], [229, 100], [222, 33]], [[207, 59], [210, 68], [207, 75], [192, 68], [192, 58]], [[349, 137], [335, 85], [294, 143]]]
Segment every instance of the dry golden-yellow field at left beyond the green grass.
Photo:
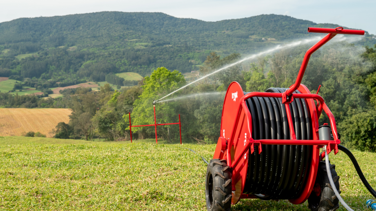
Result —
[[40, 132], [52, 137], [59, 122], [69, 122], [70, 109], [0, 109], [0, 136]]

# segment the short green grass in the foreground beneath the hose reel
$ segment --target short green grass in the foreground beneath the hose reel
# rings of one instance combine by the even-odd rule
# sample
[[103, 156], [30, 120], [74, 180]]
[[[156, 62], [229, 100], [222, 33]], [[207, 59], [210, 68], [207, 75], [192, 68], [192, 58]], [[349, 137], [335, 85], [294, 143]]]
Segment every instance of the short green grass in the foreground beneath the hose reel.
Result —
[[[38, 137], [0, 138], [3, 210], [206, 210], [206, 164], [215, 145], [154, 140], [87, 142]], [[373, 198], [343, 152], [329, 154], [342, 197], [354, 210]], [[376, 153], [354, 152], [370, 184]], [[232, 210], [309, 210], [308, 203], [244, 199]], [[340, 206], [338, 210], [344, 211]]]

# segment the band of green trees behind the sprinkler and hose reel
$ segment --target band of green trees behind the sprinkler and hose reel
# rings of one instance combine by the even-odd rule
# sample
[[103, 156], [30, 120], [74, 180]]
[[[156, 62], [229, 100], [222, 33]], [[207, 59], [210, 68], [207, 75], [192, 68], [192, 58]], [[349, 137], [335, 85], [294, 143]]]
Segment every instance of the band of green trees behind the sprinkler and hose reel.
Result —
[[[229, 84], [238, 81], [246, 92], [289, 87], [296, 79], [308, 48], [301, 46], [259, 57], [251, 63], [233, 66], [179, 90], [166, 99], [190, 97], [157, 103], [157, 122], [177, 122], [180, 114], [183, 141], [214, 143], [219, 136], [223, 92]], [[376, 151], [375, 55], [376, 46], [360, 48], [346, 42], [326, 45], [312, 54], [302, 80], [311, 93], [316, 93], [318, 86], [322, 85], [319, 94], [336, 118], [342, 143], [362, 151]], [[210, 73], [240, 57], [237, 53], [226, 57], [209, 53], [200, 67], [200, 74]], [[106, 84], [100, 87], [99, 92], [89, 88], [64, 90], [61, 99], [0, 93], [0, 106], [71, 108], [73, 112], [69, 124], [59, 123], [56, 127], [57, 138], [129, 140], [127, 114], [131, 113], [134, 125], [153, 124], [153, 100], [184, 84], [186, 81], [181, 72], [156, 68], [136, 86], [120, 91], [112, 90]], [[208, 92], [216, 94], [205, 94]], [[320, 116], [320, 125], [328, 122], [326, 115]], [[175, 126], [157, 127], [159, 138], [178, 142], [179, 128]], [[151, 127], [135, 128], [132, 132], [135, 139], [155, 136]]]

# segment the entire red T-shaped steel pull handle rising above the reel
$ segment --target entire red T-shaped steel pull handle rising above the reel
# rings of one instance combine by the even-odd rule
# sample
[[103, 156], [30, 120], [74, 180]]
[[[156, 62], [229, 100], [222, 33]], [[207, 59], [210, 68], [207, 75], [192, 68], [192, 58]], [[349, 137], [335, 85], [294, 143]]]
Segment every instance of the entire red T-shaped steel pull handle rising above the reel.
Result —
[[348, 34], [348, 35], [364, 35], [364, 30], [352, 30], [352, 29], [343, 29], [343, 27], [337, 27], [335, 29], [327, 29], [327, 28], [315, 28], [309, 27], [308, 32], [317, 32], [317, 33], [329, 33], [323, 39], [318, 41], [314, 46], [309, 48], [309, 50], [304, 55], [304, 59], [302, 65], [300, 66], [299, 74], [296, 78], [294, 86], [284, 92], [285, 95], [291, 95], [295, 90], [298, 89], [300, 83], [302, 82], [302, 78], [305, 72], [305, 69], [308, 65], [309, 58], [311, 54], [314, 53], [318, 48], [323, 46], [326, 42], [334, 38], [337, 34]]

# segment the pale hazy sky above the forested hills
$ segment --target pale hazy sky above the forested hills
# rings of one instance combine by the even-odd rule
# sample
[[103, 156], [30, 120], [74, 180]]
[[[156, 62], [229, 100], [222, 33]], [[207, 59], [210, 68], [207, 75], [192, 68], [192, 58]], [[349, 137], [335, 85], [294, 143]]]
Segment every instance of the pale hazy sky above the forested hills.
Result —
[[21, 17], [100, 11], [163, 12], [174, 17], [204, 21], [279, 14], [315, 23], [334, 23], [376, 34], [375, 0], [1, 0], [0, 3], [0, 22]]

